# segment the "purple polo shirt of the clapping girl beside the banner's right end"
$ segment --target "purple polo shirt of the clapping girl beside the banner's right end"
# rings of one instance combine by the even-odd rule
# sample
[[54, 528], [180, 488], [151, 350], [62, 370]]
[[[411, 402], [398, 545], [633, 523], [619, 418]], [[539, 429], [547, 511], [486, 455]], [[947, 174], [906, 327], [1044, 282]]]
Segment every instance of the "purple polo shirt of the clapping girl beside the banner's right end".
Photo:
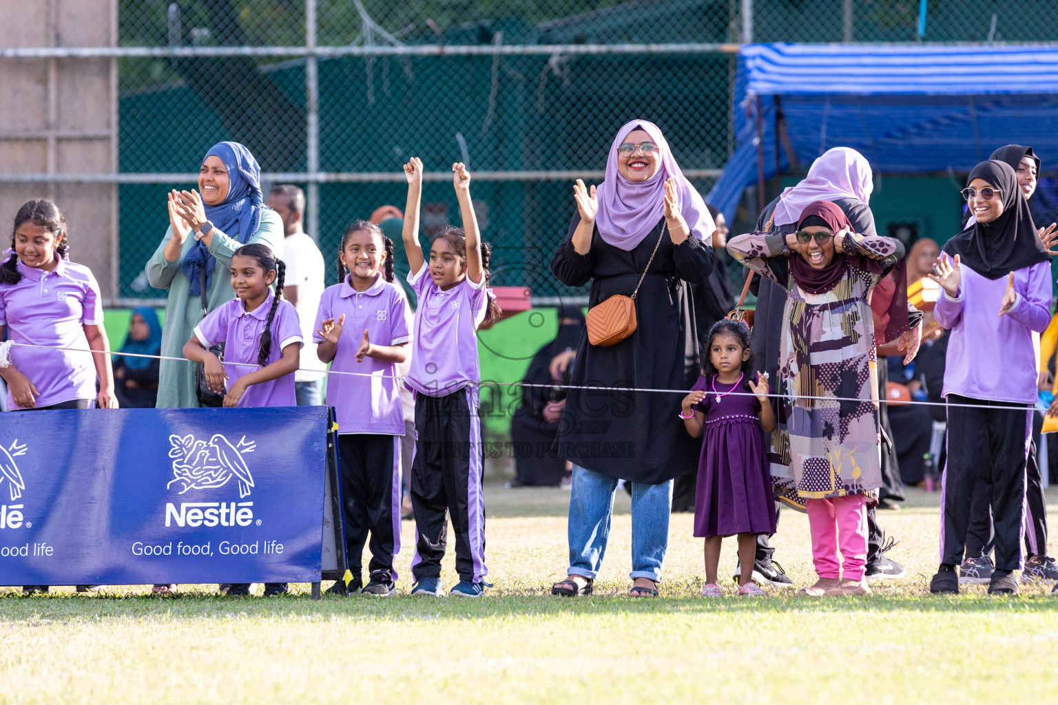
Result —
[[[381, 275], [366, 292], [358, 292], [349, 284], [351, 276], [347, 275], [341, 284], [325, 289], [316, 311], [314, 331], [323, 329], [328, 318], [338, 320], [345, 314], [330, 371], [358, 373], [327, 375], [327, 405], [336, 411], [339, 433], [404, 435], [397, 364], [373, 357], [358, 363], [357, 351], [364, 339], [364, 329], [373, 345], [396, 346], [411, 340], [404, 317], [407, 302], [400, 287]], [[316, 333], [312, 339], [324, 341]]]

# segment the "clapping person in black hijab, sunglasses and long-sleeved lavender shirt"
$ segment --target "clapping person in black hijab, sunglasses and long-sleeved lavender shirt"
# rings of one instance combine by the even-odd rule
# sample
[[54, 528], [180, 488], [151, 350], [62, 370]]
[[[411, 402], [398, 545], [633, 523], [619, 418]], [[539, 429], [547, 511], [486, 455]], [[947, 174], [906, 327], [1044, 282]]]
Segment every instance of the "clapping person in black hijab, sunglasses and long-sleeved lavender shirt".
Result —
[[[1018, 592], [1025, 462], [1037, 398], [1040, 333], [1051, 320], [1051, 258], [1009, 164], [973, 167], [963, 197], [977, 222], [951, 238], [930, 279], [933, 315], [951, 330], [943, 394], [948, 462], [941, 501], [941, 568], [930, 592], [956, 593], [974, 484], [990, 476], [996, 570], [989, 594]], [[1019, 407], [1024, 410], [993, 407]], [[987, 478], [986, 478], [987, 479]]]

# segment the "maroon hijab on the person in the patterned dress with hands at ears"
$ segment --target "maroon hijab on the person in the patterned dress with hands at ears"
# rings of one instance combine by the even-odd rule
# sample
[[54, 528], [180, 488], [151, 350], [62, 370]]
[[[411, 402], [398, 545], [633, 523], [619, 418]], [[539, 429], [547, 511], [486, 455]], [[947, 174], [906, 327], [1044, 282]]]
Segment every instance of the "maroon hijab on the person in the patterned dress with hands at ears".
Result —
[[[821, 218], [837, 234], [842, 228], [853, 229], [844, 211], [829, 201], [816, 201], [801, 211], [798, 229], [808, 216]], [[790, 276], [798, 286], [809, 294], [822, 294], [834, 289], [849, 270], [849, 254], [834, 254], [831, 263], [817, 270], [800, 255], [790, 257]], [[908, 319], [908, 263], [901, 258], [892, 270], [892, 277], [882, 277], [869, 296], [874, 314], [877, 345], [892, 342], [911, 328]]]

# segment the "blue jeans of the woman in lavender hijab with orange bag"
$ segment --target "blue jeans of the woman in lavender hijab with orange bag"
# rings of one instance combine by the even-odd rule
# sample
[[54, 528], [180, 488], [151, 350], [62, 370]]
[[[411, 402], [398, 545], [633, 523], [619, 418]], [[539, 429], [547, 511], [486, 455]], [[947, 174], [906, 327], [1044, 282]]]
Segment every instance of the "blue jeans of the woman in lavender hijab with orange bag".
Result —
[[[599, 575], [609, 523], [614, 515], [617, 480], [573, 465], [569, 497], [568, 575], [595, 579]], [[657, 485], [632, 483], [632, 579], [661, 581], [661, 563], [669, 548], [672, 480]]]

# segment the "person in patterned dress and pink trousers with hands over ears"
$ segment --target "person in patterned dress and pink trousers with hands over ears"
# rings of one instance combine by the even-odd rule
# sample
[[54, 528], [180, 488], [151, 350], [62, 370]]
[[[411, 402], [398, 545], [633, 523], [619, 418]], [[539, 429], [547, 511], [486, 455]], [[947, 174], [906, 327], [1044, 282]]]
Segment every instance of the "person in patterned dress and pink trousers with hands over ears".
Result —
[[[841, 208], [816, 201], [801, 210], [795, 233], [741, 235], [727, 249], [787, 291], [778, 389], [789, 465], [772, 465], [772, 481], [777, 496], [808, 514], [819, 579], [801, 593], [869, 593], [867, 505], [882, 484], [870, 295], [904, 265], [904, 245], [853, 233]], [[902, 294], [894, 293], [878, 342], [907, 330]]]

